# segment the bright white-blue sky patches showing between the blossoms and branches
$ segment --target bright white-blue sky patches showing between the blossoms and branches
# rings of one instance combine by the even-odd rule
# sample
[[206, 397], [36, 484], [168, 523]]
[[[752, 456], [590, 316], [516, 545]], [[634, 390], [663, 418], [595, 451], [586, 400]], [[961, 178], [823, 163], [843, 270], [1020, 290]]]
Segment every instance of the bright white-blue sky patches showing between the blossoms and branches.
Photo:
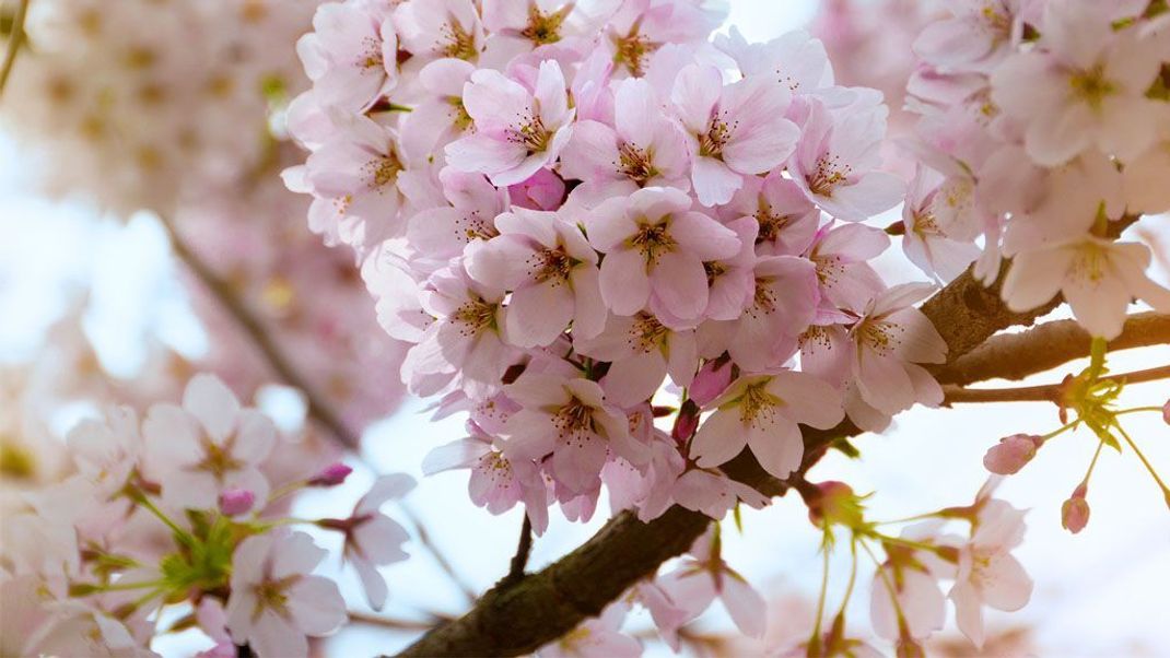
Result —
[[[732, 0], [729, 22], [749, 40], [764, 40], [804, 25], [814, 6], [807, 0]], [[41, 199], [30, 189], [19, 153], [0, 140], [0, 235], [6, 236], [0, 241], [0, 318], [5, 318], [0, 323], [0, 361], [27, 354], [46, 323], [63, 310], [63, 286], [87, 280], [94, 285], [87, 331], [112, 370], [133, 370], [143, 331], [157, 331], [191, 353], [205, 346], [174, 278], [165, 236], [151, 217], [137, 216], [122, 224], [83, 203]], [[881, 224], [881, 220], [874, 223]], [[1161, 226], [1165, 229], [1165, 219]], [[893, 251], [883, 262], [883, 273], [895, 282], [916, 278], [896, 263], [896, 247]], [[1166, 362], [1170, 346], [1122, 353], [1110, 366], [1124, 372]], [[1082, 363], [1071, 363], [1033, 381], [1055, 382], [1080, 367]], [[1168, 390], [1165, 382], [1135, 386], [1123, 400], [1127, 406], [1162, 404]], [[1130, 435], [1151, 462], [1170, 469], [1170, 429], [1154, 414], [1131, 418], [1127, 423]], [[858, 492], [875, 492], [868, 500], [875, 519], [961, 505], [986, 478], [982, 456], [999, 437], [1044, 434], [1058, 425], [1055, 409], [1045, 403], [915, 409], [899, 417], [886, 434], [860, 438], [860, 459], [834, 453], [810, 479], [841, 479]], [[460, 575], [482, 590], [507, 572], [522, 518], [517, 510], [493, 517], [474, 507], [467, 498], [466, 473], [421, 477], [419, 464], [427, 451], [461, 436], [461, 418], [431, 422], [425, 403], [411, 401], [371, 428], [364, 456], [377, 471], [407, 472], [420, 480], [407, 504], [426, 520], [434, 541]], [[1133, 453], [1106, 451], [1089, 491], [1093, 514], [1088, 527], [1076, 536], [1060, 527], [1060, 504], [1079, 482], [1094, 446], [1094, 438], [1086, 432], [1061, 436], [1002, 485], [1003, 498], [1030, 510], [1028, 534], [1018, 555], [1037, 584], [1024, 611], [1011, 616], [992, 612], [990, 625], [1032, 625], [1044, 654], [1170, 656], [1164, 604], [1170, 583], [1170, 514]], [[372, 477], [359, 470], [344, 487], [305, 500], [303, 511], [346, 505]], [[604, 522], [606, 511], [603, 503], [589, 524], [569, 524], [553, 515], [548, 534], [536, 541], [531, 567], [548, 565], [587, 539]], [[811, 605], [820, 580], [819, 534], [807, 522], [799, 499], [789, 497], [766, 510], [746, 511], [743, 521], [742, 535], [731, 528], [724, 532], [729, 562], [766, 597], [803, 596]], [[427, 555], [418, 549], [413, 553], [411, 561], [385, 570], [391, 587], [385, 612], [397, 617], [419, 610], [459, 614], [463, 605], [459, 590]], [[831, 605], [844, 590], [847, 557], [835, 556], [833, 568]], [[352, 593], [352, 575], [342, 577]], [[869, 582], [866, 577], [859, 582], [851, 618], [858, 629], [865, 629]], [[777, 625], [786, 623], [792, 621], [776, 619]], [[635, 618], [632, 624], [645, 628], [646, 619]], [[728, 619], [715, 610], [700, 624], [721, 629], [728, 628]], [[328, 640], [326, 650], [337, 656], [372, 654], [392, 652], [407, 640], [383, 629], [355, 626]], [[158, 649], [181, 656], [191, 646], [190, 637], [178, 637]], [[660, 646], [652, 647], [651, 654], [661, 653]]]

